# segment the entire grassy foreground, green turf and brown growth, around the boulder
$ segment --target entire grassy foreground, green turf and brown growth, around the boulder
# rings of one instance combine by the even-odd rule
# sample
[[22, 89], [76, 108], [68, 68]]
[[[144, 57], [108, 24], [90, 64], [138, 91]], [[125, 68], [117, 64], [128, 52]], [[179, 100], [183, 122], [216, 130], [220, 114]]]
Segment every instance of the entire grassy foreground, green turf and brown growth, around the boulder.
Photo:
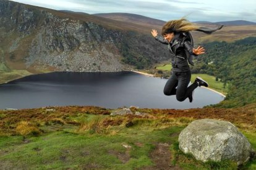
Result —
[[[147, 116], [109, 116], [100, 107], [0, 110], [0, 164], [3, 169], [147, 169], [160, 166], [158, 144], [168, 144], [172, 167], [237, 169], [232, 161], [202, 163], [178, 148], [179, 132], [195, 119], [236, 124], [256, 148], [256, 105], [243, 108], [161, 110], [132, 108]], [[162, 148], [163, 149], [163, 148]], [[163, 155], [162, 155], [163, 156]], [[157, 158], [157, 159], [156, 159]], [[256, 161], [243, 168], [255, 169]]]

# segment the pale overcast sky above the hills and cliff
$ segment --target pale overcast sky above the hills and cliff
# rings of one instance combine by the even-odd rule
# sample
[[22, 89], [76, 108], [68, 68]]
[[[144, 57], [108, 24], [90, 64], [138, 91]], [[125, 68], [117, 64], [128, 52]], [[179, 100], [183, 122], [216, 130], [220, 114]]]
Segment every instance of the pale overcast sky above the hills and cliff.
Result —
[[256, 22], [255, 0], [14, 0], [56, 10], [88, 14], [126, 12], [168, 21], [186, 16], [192, 22]]

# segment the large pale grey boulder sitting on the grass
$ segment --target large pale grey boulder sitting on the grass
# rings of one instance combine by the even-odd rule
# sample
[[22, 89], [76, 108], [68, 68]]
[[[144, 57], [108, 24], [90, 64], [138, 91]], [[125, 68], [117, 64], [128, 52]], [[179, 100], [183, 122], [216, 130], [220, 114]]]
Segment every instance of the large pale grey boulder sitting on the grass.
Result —
[[245, 163], [254, 155], [249, 141], [228, 121], [200, 119], [179, 134], [179, 149], [197, 160], [233, 160]]

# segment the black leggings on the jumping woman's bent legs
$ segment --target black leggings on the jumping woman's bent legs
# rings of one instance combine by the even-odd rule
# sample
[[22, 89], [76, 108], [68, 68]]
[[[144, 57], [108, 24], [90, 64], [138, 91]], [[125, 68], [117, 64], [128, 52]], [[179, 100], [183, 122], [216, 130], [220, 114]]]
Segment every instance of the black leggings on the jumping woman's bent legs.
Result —
[[197, 83], [192, 83], [189, 87], [187, 87], [187, 85], [189, 85], [190, 78], [190, 71], [173, 72], [164, 86], [164, 94], [176, 95], [176, 99], [179, 102], [184, 101], [187, 99], [188, 95], [190, 95], [194, 89], [198, 87]]

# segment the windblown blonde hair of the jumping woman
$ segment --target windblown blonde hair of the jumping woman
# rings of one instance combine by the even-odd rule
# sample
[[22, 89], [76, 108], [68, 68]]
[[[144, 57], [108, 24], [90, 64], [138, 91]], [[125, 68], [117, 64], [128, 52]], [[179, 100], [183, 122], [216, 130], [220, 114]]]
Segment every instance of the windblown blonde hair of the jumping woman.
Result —
[[186, 18], [181, 18], [179, 20], [170, 20], [166, 22], [162, 28], [161, 34], [168, 33], [178, 33], [197, 30], [199, 26], [194, 25], [194, 23], [189, 22]]

